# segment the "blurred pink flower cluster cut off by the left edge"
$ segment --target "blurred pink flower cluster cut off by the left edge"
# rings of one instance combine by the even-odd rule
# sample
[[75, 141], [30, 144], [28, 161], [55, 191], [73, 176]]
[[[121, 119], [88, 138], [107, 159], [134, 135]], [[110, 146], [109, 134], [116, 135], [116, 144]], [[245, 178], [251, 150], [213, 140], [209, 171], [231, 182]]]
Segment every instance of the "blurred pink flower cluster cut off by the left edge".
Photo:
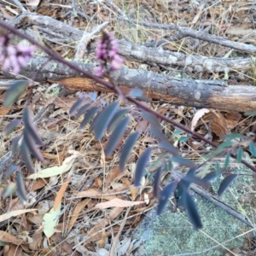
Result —
[[0, 63], [2, 70], [8, 70], [12, 67], [12, 72], [20, 73], [20, 67], [26, 67], [35, 48], [33, 46], [27, 47], [22, 44], [16, 46], [9, 45], [10, 35], [0, 37]]

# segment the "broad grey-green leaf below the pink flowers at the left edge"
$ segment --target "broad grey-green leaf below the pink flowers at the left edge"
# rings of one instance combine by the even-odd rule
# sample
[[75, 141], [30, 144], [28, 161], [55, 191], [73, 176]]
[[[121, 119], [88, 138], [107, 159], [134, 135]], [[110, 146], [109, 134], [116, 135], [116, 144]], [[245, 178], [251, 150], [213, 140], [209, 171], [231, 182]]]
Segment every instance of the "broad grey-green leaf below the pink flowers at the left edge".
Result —
[[28, 80], [17, 80], [15, 81], [3, 96], [3, 107], [10, 107], [19, 98], [21, 93], [26, 90], [28, 86]]

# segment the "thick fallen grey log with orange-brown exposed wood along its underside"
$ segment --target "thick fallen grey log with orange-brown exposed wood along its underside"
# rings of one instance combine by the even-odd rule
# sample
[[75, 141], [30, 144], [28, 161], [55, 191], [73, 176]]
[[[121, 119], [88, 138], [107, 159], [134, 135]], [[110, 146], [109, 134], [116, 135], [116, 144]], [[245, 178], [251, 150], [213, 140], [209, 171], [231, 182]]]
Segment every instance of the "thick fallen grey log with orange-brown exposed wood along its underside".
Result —
[[[45, 64], [46, 63], [46, 64]], [[85, 64], [73, 61], [85, 71], [94, 73], [96, 64]], [[82, 78], [69, 67], [56, 61], [48, 61], [45, 58], [33, 58], [26, 69], [20, 73], [28, 79], [34, 77], [38, 68], [42, 70], [35, 79], [38, 82], [58, 82], [67, 90], [96, 90], [109, 91], [101, 84], [91, 79]], [[1, 72], [5, 79], [19, 79], [7, 72]], [[107, 78], [106, 78], [107, 79]], [[121, 90], [128, 92], [133, 88], [139, 88], [145, 94], [154, 99], [172, 104], [192, 106], [196, 108], [216, 108], [226, 111], [253, 111], [256, 109], [256, 87], [248, 85], [229, 85], [222, 80], [195, 80], [178, 79], [158, 73], [144, 70], [122, 68], [113, 73], [113, 82], [119, 84]]]

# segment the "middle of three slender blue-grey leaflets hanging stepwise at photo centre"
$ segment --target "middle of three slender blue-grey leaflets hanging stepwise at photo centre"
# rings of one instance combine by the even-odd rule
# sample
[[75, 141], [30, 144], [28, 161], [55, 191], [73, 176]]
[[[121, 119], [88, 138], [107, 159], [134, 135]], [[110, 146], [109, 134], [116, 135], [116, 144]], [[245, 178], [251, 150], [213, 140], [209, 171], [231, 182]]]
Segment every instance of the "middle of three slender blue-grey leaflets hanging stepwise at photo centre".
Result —
[[131, 133], [131, 135], [126, 139], [125, 146], [120, 154], [120, 159], [119, 159], [120, 172], [125, 171], [125, 165], [130, 158], [131, 150], [135, 145], [135, 143], [137, 142], [137, 139], [139, 136], [140, 136], [140, 133], [136, 131], [134, 133]]

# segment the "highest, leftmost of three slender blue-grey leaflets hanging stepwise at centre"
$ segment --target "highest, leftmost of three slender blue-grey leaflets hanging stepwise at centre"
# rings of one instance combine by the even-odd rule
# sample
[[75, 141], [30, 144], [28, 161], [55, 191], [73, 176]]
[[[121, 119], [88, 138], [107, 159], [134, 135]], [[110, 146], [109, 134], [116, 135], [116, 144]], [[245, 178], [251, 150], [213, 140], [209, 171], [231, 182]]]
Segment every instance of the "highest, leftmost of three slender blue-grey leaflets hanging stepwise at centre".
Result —
[[109, 141], [105, 150], [106, 156], [110, 156], [113, 152], [113, 149], [116, 147], [117, 143], [119, 142], [120, 137], [125, 132], [125, 129], [127, 125], [129, 125], [130, 118], [126, 117], [125, 119], [122, 119], [119, 124], [115, 127], [113, 130], [113, 133], [109, 137]]

